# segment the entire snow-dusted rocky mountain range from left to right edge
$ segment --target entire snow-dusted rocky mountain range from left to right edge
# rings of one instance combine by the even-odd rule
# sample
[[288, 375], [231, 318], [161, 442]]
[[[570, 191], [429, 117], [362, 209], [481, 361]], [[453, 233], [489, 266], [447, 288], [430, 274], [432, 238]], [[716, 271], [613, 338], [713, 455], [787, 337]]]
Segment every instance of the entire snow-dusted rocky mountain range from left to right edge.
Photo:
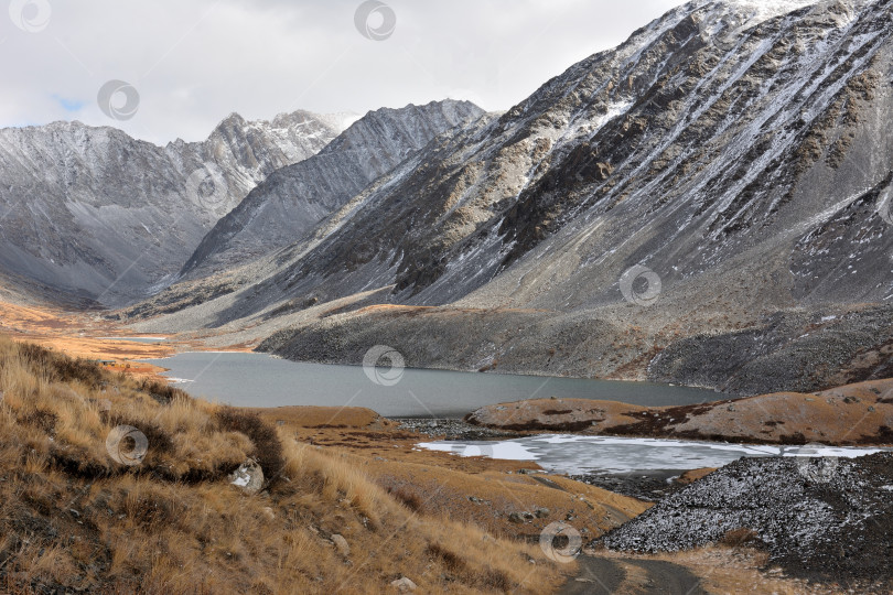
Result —
[[[141, 331], [300, 360], [386, 344], [416, 367], [736, 393], [893, 376], [892, 36], [891, 0], [696, 0], [503, 113], [302, 113], [319, 144], [289, 163], [220, 128], [215, 150], [3, 131], [0, 266]], [[208, 162], [233, 191], [195, 208], [181, 188]], [[82, 239], [100, 225], [121, 239]]]

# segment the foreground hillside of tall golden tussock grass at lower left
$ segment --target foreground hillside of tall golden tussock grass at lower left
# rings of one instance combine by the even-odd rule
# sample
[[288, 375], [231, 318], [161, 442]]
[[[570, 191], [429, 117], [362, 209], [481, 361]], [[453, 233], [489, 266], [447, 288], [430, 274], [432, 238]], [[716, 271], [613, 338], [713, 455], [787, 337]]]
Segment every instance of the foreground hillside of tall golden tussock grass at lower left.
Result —
[[[155, 382], [0, 337], [0, 592], [389, 593], [408, 576], [421, 593], [544, 593], [570, 570]], [[110, 456], [118, 425], [146, 436], [139, 464]], [[227, 479], [249, 457], [269, 479], [257, 495]]]

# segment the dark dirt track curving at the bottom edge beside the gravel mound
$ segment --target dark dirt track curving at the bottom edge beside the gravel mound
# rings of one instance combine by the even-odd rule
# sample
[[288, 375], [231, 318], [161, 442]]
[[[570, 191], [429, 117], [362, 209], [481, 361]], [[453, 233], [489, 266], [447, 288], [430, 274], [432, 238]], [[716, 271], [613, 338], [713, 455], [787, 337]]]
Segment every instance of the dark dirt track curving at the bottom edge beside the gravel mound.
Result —
[[700, 580], [673, 562], [582, 555], [578, 563], [580, 573], [559, 595], [706, 595]]

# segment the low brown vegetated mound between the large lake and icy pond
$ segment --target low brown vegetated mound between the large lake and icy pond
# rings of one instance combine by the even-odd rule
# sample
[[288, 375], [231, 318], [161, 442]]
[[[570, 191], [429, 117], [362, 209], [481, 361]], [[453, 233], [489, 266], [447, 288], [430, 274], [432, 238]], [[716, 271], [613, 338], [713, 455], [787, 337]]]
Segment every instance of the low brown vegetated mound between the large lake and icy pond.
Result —
[[717, 440], [763, 444], [893, 444], [893, 380], [815, 393], [778, 392], [682, 407], [532, 399], [478, 409], [466, 421], [515, 431]]

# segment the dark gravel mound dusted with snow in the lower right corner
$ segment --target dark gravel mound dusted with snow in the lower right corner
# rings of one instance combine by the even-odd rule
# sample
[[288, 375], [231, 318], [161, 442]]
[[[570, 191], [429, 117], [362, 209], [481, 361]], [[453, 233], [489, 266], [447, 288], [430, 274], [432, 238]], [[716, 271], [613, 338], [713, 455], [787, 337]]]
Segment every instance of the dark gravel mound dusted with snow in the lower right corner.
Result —
[[[853, 459], [743, 458], [670, 494], [593, 543], [687, 550], [736, 536], [793, 575], [893, 587], [893, 453]], [[820, 463], [820, 465], [816, 465]]]

